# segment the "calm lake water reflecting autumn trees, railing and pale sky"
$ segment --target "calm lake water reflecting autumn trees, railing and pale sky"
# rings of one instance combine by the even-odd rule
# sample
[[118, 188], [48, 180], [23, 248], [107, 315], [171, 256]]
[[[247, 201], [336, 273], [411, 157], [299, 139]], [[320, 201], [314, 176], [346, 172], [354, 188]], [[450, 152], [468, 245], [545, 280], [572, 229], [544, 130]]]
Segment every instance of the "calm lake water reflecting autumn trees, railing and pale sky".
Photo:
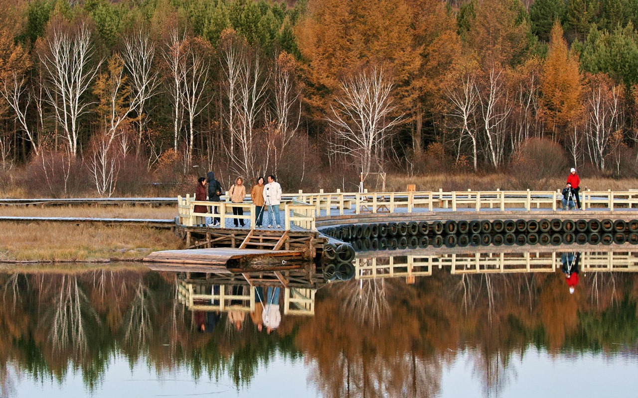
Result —
[[635, 397], [638, 252], [597, 250], [362, 259], [272, 305], [227, 275], [6, 266], [0, 395]]

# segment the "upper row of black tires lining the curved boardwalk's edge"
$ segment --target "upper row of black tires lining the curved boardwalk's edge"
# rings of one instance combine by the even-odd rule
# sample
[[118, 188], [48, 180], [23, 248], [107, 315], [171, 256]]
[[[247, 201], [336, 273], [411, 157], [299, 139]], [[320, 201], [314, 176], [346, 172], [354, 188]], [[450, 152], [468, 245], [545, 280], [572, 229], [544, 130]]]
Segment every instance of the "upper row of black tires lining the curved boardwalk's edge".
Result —
[[638, 220], [448, 220], [382, 222], [374, 224], [348, 224], [329, 227], [323, 234], [341, 241], [367, 238], [402, 236], [436, 236], [464, 234], [508, 234], [544, 232], [609, 232], [638, 233]]

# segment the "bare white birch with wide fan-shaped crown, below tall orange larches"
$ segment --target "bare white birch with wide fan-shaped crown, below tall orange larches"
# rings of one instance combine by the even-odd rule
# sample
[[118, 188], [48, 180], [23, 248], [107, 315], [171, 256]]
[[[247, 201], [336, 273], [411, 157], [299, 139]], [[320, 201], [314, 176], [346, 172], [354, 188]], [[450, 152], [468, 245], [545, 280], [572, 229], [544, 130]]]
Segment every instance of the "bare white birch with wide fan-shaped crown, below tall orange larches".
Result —
[[394, 83], [383, 67], [363, 69], [341, 82], [327, 122], [335, 139], [330, 151], [355, 160], [365, 179], [380, 166], [383, 145], [401, 122], [392, 97]]

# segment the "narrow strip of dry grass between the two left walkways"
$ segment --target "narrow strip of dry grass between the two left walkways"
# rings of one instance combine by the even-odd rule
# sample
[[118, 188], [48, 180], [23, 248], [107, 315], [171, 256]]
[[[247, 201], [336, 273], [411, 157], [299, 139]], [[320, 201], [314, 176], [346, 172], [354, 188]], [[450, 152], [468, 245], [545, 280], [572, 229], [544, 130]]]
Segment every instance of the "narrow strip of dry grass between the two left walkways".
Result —
[[0, 206], [0, 216], [175, 218], [177, 206]]

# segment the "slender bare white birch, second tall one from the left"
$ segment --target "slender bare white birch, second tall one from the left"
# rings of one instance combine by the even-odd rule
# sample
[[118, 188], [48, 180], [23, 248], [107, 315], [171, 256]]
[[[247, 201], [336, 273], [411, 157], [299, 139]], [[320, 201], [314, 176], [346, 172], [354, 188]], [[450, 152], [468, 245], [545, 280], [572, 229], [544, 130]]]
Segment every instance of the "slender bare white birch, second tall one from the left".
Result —
[[148, 122], [146, 104], [158, 94], [159, 71], [155, 68], [155, 42], [149, 38], [149, 32], [139, 28], [124, 38], [122, 59], [130, 76], [131, 95], [137, 98], [137, 136], [136, 154], [142, 150], [142, 138]]

